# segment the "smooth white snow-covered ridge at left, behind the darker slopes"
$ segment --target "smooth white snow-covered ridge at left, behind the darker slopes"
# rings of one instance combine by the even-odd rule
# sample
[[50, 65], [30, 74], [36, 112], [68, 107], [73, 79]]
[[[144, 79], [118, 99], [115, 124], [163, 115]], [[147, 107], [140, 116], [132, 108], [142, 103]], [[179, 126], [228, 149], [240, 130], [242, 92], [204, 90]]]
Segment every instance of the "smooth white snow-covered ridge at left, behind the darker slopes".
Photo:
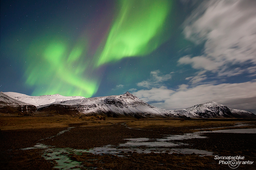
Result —
[[46, 104], [51, 104], [57, 101], [66, 101], [66, 100], [73, 100], [73, 99], [84, 99], [85, 97], [81, 96], [62, 96], [59, 94], [55, 95], [43, 95], [43, 96], [28, 96], [16, 92], [5, 92], [7, 96], [10, 96], [18, 101], [22, 101], [28, 104], [32, 104], [36, 107], [44, 106]]

